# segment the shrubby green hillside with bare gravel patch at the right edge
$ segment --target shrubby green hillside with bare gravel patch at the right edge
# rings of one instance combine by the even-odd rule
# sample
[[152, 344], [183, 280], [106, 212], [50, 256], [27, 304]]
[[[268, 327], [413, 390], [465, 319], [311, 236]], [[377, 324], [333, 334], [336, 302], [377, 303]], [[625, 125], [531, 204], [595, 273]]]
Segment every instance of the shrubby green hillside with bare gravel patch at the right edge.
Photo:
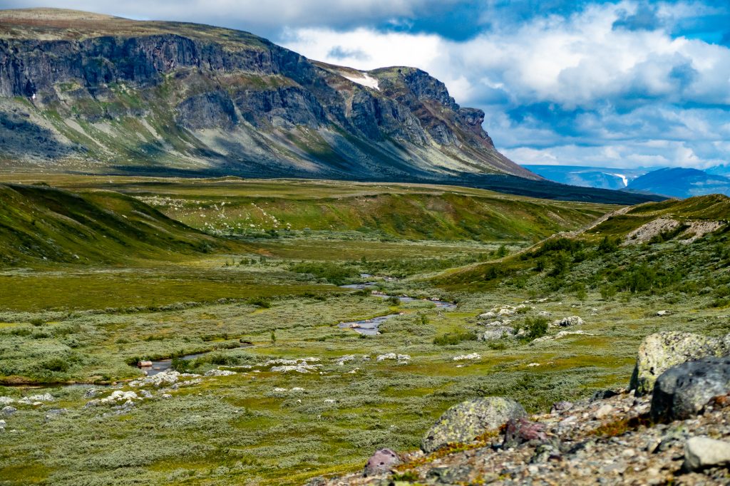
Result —
[[598, 290], [604, 298], [677, 293], [723, 299], [730, 295], [729, 220], [726, 196], [641, 204], [583, 232], [554, 236], [500, 261], [447, 271], [434, 282], [533, 293]]

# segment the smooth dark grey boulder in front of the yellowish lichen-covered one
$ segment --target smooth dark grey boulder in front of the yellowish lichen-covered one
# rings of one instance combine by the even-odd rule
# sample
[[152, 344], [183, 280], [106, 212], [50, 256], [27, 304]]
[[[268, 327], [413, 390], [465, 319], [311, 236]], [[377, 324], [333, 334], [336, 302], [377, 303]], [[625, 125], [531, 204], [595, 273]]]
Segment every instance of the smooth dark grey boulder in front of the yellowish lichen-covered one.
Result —
[[651, 417], [683, 420], [694, 417], [710, 398], [730, 391], [730, 356], [702, 358], [664, 371], [656, 380]]

